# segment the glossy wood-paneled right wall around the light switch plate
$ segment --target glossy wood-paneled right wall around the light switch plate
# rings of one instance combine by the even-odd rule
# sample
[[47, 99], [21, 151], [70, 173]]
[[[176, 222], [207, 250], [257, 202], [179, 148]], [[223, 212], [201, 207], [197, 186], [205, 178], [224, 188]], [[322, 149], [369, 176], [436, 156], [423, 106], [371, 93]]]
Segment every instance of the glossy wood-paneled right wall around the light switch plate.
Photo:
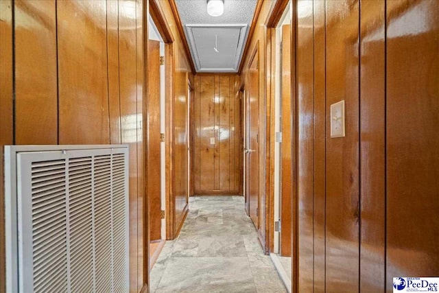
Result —
[[[438, 275], [439, 2], [295, 7], [298, 292]], [[346, 137], [332, 139], [342, 99]]]

